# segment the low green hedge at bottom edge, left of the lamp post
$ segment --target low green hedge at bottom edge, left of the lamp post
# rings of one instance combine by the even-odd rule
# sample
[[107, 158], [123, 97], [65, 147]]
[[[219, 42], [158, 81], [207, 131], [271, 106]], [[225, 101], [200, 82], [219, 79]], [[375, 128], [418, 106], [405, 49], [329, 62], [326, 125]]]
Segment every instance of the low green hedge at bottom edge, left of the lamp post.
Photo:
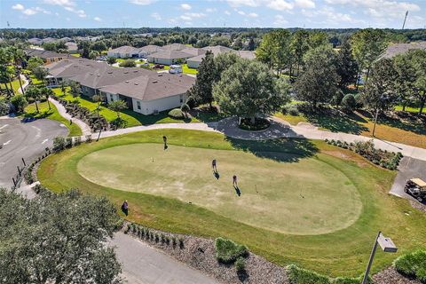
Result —
[[[299, 268], [295, 264], [288, 265], [287, 271], [290, 284], [360, 284], [363, 278], [363, 275], [361, 275], [359, 278], [338, 277], [331, 279], [317, 272]], [[368, 277], [367, 283], [373, 284], [373, 280]]]

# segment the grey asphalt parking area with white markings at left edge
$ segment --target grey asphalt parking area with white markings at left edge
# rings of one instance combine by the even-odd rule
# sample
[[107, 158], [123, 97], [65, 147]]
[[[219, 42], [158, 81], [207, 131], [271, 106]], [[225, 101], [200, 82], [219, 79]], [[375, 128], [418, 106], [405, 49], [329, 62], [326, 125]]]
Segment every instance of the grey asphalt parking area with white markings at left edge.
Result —
[[[62, 125], [62, 126], [61, 126]], [[53, 138], [67, 136], [65, 125], [48, 119], [21, 122], [18, 118], [0, 119], [0, 186], [10, 188], [12, 177], [22, 167], [22, 158], [31, 162], [51, 147]]]

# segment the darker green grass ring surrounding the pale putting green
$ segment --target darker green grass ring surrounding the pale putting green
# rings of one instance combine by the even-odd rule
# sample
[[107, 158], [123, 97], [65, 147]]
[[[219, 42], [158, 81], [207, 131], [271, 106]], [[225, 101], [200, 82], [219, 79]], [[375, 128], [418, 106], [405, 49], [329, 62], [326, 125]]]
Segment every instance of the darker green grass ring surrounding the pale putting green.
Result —
[[[96, 185], [77, 173], [77, 163], [86, 154], [111, 146], [144, 142], [162, 143], [162, 135], [167, 135], [170, 145], [225, 150], [238, 148], [259, 154], [273, 149], [275, 152], [311, 156], [309, 153], [317, 148], [321, 151], [315, 154], [317, 159], [342, 171], [358, 188], [363, 204], [361, 215], [353, 225], [334, 233], [320, 235], [276, 233], [241, 224], [208, 209], [175, 199], [123, 192]], [[295, 263], [328, 276], [359, 276], [365, 269], [372, 242], [379, 230], [392, 238], [398, 246], [398, 253], [377, 252], [373, 272], [387, 267], [400, 254], [425, 248], [424, 213], [413, 209], [408, 201], [388, 194], [396, 172], [379, 169], [350, 151], [327, 146], [320, 141], [305, 140], [303, 145], [297, 141], [295, 139], [241, 141], [224, 138], [218, 133], [190, 130], [142, 131], [105, 138], [99, 143], [84, 144], [60, 154], [53, 154], [42, 162], [38, 177], [43, 185], [56, 192], [77, 187], [84, 192], [106, 195], [115, 203], [117, 209], [123, 200], [128, 200], [130, 203], [128, 219], [138, 224], [168, 232], [190, 233], [212, 238], [224, 236], [247, 245], [251, 251], [276, 264]], [[308, 142], [309, 145], [306, 145]], [[188, 149], [188, 153], [190, 151], [191, 149]], [[341, 153], [347, 160], [333, 156], [335, 154], [340, 157]], [[185, 174], [185, 171], [182, 174]]]

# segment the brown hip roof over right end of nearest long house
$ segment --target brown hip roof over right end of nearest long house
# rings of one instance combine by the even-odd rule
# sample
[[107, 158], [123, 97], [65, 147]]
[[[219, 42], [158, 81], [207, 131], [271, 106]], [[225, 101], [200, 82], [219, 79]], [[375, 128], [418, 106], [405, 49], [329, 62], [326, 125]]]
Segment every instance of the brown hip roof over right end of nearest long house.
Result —
[[99, 89], [100, 91], [147, 101], [185, 93], [193, 83], [195, 83], [195, 78], [188, 75], [151, 72], [148, 75], [140, 75], [122, 83], [107, 85]]

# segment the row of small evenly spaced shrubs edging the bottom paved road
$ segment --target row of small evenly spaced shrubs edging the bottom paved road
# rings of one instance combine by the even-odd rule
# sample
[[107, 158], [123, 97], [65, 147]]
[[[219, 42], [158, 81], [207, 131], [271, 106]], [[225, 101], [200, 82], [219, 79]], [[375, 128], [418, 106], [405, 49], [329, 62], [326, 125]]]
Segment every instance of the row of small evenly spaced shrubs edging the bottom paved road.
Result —
[[154, 230], [151, 230], [142, 225], [128, 224], [124, 233], [131, 233], [137, 236], [139, 239], [146, 241], [154, 241], [165, 246], [172, 246], [172, 248], [185, 248], [184, 239], [176, 238], [175, 236], [170, 236], [166, 233], [156, 233]]

